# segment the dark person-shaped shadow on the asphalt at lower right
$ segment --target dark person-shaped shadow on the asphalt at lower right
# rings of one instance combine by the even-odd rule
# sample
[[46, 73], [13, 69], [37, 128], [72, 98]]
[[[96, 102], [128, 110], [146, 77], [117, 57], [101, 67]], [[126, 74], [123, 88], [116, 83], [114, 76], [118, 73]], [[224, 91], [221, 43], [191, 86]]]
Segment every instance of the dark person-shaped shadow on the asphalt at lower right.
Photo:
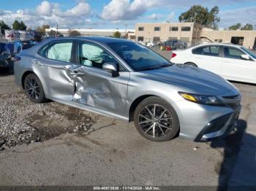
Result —
[[[255, 165], [255, 152], [246, 152], [246, 155], [240, 157], [238, 161], [238, 154], [241, 155], [241, 146], [247, 144], [256, 145], [256, 137], [245, 132], [247, 123], [245, 120], [238, 120], [234, 133], [227, 136], [225, 139], [219, 139], [211, 142], [211, 147], [218, 149], [223, 148], [223, 160], [221, 163], [215, 166], [215, 171], [219, 174], [219, 187], [218, 191], [222, 190], [256, 190], [256, 176], [255, 182], [252, 182], [252, 174], [246, 172], [251, 171], [251, 167]], [[243, 142], [242, 142], [242, 138]], [[244, 166], [244, 163], [248, 165]], [[245, 174], [236, 174], [235, 184], [231, 184], [230, 179], [235, 173], [236, 168], [244, 168]], [[255, 172], [256, 173], [256, 172]], [[247, 176], [247, 177], [246, 177]], [[244, 179], [248, 179], [248, 182], [244, 182]], [[252, 185], [254, 187], [252, 187]]]

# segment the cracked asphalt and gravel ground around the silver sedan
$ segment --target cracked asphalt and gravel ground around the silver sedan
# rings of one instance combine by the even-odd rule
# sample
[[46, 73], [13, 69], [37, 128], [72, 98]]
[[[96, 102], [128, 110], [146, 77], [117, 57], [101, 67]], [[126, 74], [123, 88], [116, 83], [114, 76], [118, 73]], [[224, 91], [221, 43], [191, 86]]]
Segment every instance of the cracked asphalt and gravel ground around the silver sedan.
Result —
[[1, 73], [0, 186], [256, 186], [256, 86], [235, 85], [243, 109], [227, 139], [156, 143], [132, 123], [54, 102], [33, 104], [12, 75]]

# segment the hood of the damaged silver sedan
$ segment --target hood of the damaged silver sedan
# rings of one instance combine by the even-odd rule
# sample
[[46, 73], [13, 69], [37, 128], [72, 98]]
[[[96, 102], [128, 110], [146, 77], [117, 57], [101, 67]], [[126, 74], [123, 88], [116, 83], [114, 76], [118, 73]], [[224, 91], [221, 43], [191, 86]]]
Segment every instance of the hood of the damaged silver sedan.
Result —
[[219, 75], [193, 66], [175, 64], [163, 69], [141, 71], [141, 73], [147, 79], [175, 85], [181, 87], [181, 90], [187, 89], [187, 93], [220, 95], [230, 90], [234, 93], [238, 92], [236, 87]]

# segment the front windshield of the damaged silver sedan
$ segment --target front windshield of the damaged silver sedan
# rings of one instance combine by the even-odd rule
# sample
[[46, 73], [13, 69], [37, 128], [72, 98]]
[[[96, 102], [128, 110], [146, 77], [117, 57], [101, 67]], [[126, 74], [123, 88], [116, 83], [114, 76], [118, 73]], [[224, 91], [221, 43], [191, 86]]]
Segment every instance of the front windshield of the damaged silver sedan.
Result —
[[172, 66], [153, 50], [134, 42], [110, 42], [108, 46], [114, 50], [134, 71], [160, 69]]

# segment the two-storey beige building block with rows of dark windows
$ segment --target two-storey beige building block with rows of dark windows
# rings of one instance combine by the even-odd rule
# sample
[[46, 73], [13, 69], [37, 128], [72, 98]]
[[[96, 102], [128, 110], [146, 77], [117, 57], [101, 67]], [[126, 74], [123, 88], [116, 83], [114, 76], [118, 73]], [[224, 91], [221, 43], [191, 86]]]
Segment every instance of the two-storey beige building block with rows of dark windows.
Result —
[[180, 39], [189, 45], [200, 42], [203, 26], [197, 23], [137, 23], [135, 36], [137, 41], [164, 42]]

